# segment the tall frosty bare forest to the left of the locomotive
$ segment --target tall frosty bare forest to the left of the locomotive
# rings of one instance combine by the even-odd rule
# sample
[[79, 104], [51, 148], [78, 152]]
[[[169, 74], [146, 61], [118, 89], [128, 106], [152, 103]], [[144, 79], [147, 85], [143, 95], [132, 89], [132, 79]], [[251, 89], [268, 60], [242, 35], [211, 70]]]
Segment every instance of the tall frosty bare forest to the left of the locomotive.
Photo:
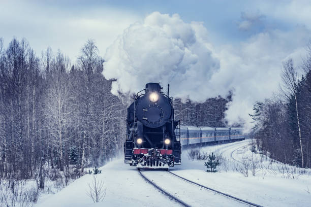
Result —
[[[102, 165], [125, 137], [126, 108], [101, 74], [88, 40], [74, 63], [51, 48], [39, 57], [25, 39], [0, 39], [0, 176], [31, 178], [43, 165]], [[13, 173], [14, 172], [14, 173]]]

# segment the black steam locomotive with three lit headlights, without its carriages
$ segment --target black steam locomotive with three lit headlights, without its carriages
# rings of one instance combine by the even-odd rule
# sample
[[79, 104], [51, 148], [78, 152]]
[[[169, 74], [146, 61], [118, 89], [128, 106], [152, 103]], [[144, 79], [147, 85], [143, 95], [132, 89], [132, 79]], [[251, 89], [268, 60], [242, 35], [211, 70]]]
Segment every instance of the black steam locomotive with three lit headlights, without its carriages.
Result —
[[175, 134], [178, 125], [172, 98], [162, 92], [160, 84], [147, 83], [128, 108], [125, 163], [138, 169], [168, 169], [180, 164], [180, 139]]

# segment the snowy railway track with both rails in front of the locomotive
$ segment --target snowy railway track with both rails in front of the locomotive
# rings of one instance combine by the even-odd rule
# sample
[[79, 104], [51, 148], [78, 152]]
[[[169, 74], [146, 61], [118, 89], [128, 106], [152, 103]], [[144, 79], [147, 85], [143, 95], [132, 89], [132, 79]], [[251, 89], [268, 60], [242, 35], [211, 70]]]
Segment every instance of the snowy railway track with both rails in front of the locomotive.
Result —
[[[208, 203], [209, 206], [241, 206], [243, 204], [245, 206], [262, 207], [261, 205], [190, 181], [170, 171], [138, 172], [151, 185], [183, 206], [206, 206]], [[180, 180], [183, 182], [180, 182]], [[196, 187], [194, 188], [194, 186]], [[227, 199], [224, 199], [224, 197]]]

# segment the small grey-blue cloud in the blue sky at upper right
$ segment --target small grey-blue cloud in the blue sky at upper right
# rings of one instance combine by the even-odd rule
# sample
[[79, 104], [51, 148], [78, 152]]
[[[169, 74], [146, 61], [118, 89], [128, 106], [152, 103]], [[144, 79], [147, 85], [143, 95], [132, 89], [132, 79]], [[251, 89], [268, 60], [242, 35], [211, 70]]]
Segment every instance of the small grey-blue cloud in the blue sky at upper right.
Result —
[[238, 23], [240, 30], [249, 30], [255, 24], [261, 22], [265, 16], [259, 11], [257, 12], [241, 12], [241, 22]]

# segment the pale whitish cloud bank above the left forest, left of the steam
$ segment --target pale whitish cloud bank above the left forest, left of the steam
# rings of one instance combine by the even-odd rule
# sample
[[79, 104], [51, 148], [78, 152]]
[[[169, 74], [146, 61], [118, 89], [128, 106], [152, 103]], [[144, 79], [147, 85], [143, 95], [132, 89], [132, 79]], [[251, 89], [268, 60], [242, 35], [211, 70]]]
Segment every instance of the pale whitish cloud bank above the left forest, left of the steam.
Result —
[[[5, 44], [26, 38], [38, 54], [48, 46], [76, 59], [87, 39], [94, 39], [104, 53], [117, 35], [142, 17], [121, 9], [64, 2], [4, 1], [0, 12]], [[4, 9], [5, 8], [5, 9]], [[102, 48], [102, 50], [101, 50]], [[103, 54], [101, 54], [103, 55]]]

